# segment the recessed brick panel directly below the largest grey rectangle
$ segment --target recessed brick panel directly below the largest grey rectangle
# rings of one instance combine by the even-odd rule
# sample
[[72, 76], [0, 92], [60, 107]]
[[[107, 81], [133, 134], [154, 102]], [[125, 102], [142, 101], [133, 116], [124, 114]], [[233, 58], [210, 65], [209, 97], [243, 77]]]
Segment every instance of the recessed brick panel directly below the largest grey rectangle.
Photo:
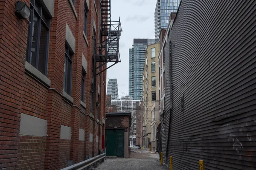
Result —
[[16, 170], [44, 170], [46, 137], [20, 136]]

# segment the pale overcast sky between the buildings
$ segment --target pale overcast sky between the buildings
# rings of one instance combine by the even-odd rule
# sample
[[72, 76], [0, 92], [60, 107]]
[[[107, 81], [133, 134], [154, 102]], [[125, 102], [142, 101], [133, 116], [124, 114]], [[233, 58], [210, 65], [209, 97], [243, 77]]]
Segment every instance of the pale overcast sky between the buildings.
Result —
[[129, 48], [134, 38], [154, 38], [154, 11], [157, 0], [111, 0], [111, 20], [122, 25], [119, 40], [121, 62], [107, 70], [108, 79], [117, 79], [119, 97], [129, 93]]

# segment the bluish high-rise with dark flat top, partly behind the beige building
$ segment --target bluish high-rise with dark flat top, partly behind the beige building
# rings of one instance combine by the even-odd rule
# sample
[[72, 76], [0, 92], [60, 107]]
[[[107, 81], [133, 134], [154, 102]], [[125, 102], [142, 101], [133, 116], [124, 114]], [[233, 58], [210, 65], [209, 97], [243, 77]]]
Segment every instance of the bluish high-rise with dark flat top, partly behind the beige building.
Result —
[[134, 39], [129, 48], [129, 97], [140, 100], [143, 90], [143, 70], [145, 64], [145, 49], [155, 43], [155, 39]]

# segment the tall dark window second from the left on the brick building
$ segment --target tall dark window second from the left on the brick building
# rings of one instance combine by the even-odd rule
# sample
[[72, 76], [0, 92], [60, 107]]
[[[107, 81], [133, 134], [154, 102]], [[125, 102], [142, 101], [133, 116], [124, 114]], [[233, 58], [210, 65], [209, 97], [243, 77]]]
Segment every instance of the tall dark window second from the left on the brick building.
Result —
[[63, 90], [71, 95], [71, 79], [72, 79], [72, 57], [73, 52], [68, 45], [65, 47], [65, 62], [64, 62], [64, 85]]

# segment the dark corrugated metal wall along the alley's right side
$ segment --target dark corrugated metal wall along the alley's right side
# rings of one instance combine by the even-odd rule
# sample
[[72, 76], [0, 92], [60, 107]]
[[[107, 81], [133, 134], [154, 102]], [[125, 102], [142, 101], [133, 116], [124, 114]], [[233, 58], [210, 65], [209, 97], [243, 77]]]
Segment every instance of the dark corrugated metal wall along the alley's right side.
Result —
[[[174, 169], [198, 170], [204, 160], [205, 170], [256, 170], [256, 0], [182, 0], [170, 41]], [[165, 70], [170, 82], [170, 64]], [[169, 115], [161, 116], [167, 128]]]

